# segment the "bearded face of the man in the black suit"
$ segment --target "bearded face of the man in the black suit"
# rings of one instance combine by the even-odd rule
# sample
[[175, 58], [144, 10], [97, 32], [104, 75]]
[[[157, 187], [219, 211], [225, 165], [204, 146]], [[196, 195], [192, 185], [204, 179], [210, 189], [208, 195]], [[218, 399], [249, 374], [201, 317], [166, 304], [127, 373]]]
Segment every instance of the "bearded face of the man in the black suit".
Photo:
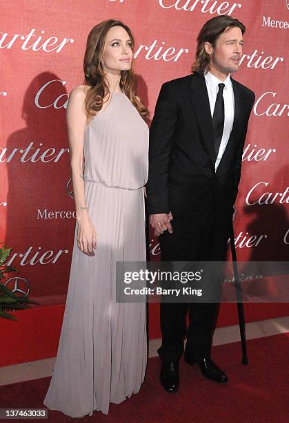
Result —
[[209, 54], [210, 68], [226, 74], [237, 72], [243, 54], [243, 35], [240, 28], [233, 27], [223, 32]]

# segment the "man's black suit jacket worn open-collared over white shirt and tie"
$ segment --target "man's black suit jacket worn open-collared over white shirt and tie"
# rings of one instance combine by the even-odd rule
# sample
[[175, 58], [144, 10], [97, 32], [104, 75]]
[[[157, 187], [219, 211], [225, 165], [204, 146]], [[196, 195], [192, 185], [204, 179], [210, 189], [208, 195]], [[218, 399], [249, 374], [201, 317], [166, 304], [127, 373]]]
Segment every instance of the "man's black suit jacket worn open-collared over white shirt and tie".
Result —
[[234, 123], [217, 172], [205, 78], [194, 73], [161, 87], [150, 128], [149, 214], [171, 211], [175, 223], [192, 228], [232, 222], [255, 94], [231, 80]]

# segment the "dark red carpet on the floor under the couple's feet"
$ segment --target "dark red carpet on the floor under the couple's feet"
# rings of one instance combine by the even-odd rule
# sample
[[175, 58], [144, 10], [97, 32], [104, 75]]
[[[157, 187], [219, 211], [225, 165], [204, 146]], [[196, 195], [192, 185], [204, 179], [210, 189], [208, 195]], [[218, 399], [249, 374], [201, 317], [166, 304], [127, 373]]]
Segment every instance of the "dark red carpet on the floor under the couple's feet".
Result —
[[[203, 379], [197, 366], [181, 361], [179, 393], [169, 394], [159, 384], [159, 359], [149, 360], [141, 392], [122, 404], [111, 404], [110, 413], [71, 419], [48, 411], [50, 422], [240, 422], [289, 421], [289, 332], [248, 341], [250, 364], [240, 364], [240, 344], [213, 348], [212, 358], [228, 374], [226, 386]], [[0, 408], [43, 408], [50, 378], [0, 388]], [[34, 420], [35, 421], [35, 420]], [[13, 420], [23, 422], [23, 420]]]

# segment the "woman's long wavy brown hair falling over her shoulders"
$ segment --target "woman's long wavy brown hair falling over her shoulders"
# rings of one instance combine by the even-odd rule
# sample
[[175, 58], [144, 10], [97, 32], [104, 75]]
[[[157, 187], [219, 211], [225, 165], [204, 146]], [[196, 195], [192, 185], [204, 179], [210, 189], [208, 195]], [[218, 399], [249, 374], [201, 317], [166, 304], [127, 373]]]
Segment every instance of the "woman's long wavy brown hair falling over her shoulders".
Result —
[[[128, 26], [124, 25], [121, 21], [109, 19], [103, 21], [97, 26], [94, 26], [88, 35], [86, 43], [86, 53], [83, 59], [83, 70], [85, 75], [85, 84], [89, 86], [86, 93], [85, 108], [88, 115], [96, 115], [103, 106], [103, 98], [109, 94], [108, 82], [105, 77], [101, 65], [101, 57], [103, 55], [106, 36], [110, 28], [114, 26], [122, 26], [128, 32], [132, 42], [132, 50], [134, 49], [134, 37]], [[135, 106], [142, 118], [148, 116], [148, 109], [143, 106], [139, 97], [134, 93], [134, 73], [132, 69], [129, 71], [121, 71], [120, 88], [124, 94], [129, 98]]]

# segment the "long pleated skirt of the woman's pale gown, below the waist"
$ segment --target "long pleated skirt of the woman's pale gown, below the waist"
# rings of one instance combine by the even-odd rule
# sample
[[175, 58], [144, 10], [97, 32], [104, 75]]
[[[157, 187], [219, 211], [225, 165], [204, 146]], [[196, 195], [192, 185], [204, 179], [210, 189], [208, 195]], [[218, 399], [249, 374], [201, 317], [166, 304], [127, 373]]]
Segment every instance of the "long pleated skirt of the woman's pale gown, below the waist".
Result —
[[95, 256], [77, 247], [77, 225], [63, 326], [43, 402], [71, 417], [108, 413], [138, 393], [147, 363], [146, 303], [116, 303], [116, 261], [146, 261], [143, 188], [86, 181]]

